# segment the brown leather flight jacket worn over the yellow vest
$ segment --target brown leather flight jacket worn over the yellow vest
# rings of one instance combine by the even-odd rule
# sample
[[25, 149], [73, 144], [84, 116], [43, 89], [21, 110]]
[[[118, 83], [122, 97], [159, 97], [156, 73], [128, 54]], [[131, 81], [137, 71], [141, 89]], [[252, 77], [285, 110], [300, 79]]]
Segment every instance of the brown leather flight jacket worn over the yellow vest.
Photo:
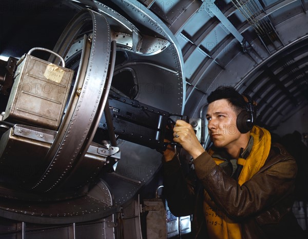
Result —
[[178, 155], [163, 161], [167, 204], [175, 216], [192, 215], [191, 238], [209, 238], [204, 222], [204, 190], [240, 224], [244, 239], [306, 238], [292, 212], [297, 165], [281, 145], [272, 144], [263, 167], [242, 186], [207, 152], [193, 163], [195, 170], [184, 176]]

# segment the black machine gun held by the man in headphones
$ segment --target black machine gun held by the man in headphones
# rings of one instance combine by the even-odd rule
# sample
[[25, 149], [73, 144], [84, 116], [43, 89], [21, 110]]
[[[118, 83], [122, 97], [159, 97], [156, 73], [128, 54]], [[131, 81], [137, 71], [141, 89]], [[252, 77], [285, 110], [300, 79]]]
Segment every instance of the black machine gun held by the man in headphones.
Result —
[[161, 150], [166, 147], [165, 138], [172, 142], [172, 125], [177, 120], [189, 122], [186, 115], [171, 114], [117, 93], [110, 93], [108, 102], [110, 113], [105, 110], [102, 115], [94, 138], [97, 141], [109, 137], [111, 143], [115, 142], [116, 134], [123, 140]]

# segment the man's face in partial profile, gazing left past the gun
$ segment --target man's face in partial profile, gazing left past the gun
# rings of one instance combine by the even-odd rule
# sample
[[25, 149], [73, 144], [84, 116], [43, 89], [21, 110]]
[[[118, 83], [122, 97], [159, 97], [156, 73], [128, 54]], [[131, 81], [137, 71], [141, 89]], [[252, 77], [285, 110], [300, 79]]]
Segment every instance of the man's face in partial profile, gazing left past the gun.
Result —
[[237, 113], [226, 99], [219, 99], [208, 105], [207, 128], [216, 147], [229, 148], [238, 143], [241, 133], [236, 127], [236, 118]]

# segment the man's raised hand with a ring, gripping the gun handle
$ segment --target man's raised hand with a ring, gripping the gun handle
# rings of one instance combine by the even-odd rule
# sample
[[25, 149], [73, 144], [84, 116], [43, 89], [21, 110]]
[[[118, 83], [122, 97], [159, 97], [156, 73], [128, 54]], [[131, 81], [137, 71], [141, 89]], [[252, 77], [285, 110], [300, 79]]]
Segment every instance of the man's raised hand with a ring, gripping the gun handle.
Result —
[[178, 120], [173, 131], [174, 142], [179, 143], [194, 159], [205, 151], [190, 124]]

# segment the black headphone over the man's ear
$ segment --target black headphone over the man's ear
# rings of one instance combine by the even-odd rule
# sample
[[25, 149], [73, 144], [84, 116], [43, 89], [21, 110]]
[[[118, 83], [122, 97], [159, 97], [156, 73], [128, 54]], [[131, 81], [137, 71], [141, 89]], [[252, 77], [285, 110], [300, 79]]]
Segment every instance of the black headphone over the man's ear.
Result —
[[251, 130], [255, 123], [257, 103], [248, 95], [242, 94], [246, 110], [241, 111], [236, 119], [236, 127], [243, 134]]

